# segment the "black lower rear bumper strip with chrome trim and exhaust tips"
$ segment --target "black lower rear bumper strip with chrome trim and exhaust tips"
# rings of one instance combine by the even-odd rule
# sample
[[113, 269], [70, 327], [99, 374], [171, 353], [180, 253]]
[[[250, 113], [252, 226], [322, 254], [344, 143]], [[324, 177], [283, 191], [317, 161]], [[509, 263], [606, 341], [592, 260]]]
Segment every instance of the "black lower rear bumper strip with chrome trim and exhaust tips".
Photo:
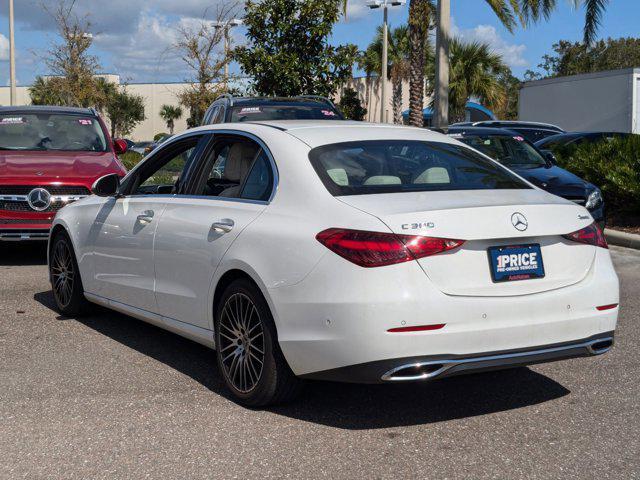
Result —
[[312, 380], [352, 383], [429, 381], [467, 373], [591, 357], [608, 352], [614, 332], [554, 345], [485, 352], [471, 356], [432, 355], [386, 359], [302, 375]]

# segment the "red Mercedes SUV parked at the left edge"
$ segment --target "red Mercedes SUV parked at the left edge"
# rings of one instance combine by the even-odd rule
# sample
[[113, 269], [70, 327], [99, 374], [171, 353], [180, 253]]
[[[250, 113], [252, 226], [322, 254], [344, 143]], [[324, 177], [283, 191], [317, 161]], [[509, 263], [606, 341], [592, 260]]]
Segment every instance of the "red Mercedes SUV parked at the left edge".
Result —
[[94, 109], [0, 107], [0, 240], [46, 240], [59, 209], [124, 176], [126, 148]]

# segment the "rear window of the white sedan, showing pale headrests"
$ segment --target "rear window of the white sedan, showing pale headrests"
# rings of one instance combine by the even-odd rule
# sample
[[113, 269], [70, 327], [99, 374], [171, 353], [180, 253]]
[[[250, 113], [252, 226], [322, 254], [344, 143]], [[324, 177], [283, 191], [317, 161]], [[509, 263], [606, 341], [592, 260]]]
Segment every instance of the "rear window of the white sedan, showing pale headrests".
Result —
[[333, 195], [526, 189], [504, 167], [460, 145], [375, 140], [324, 145], [309, 158]]

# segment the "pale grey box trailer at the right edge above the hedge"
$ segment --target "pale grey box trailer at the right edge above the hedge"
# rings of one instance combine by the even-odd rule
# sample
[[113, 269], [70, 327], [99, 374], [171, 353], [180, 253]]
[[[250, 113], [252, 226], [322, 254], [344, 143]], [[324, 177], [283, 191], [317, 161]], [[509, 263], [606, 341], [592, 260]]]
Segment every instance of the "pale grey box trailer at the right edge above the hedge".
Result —
[[640, 134], [640, 68], [525, 82], [518, 117], [567, 131]]

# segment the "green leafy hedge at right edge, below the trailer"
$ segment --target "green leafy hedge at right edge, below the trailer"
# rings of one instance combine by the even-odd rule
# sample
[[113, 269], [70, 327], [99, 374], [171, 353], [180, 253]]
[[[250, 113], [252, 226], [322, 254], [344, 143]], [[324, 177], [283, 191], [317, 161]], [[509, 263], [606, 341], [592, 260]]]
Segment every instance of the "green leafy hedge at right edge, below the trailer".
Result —
[[558, 165], [602, 190], [609, 211], [640, 214], [640, 135], [554, 150]]

